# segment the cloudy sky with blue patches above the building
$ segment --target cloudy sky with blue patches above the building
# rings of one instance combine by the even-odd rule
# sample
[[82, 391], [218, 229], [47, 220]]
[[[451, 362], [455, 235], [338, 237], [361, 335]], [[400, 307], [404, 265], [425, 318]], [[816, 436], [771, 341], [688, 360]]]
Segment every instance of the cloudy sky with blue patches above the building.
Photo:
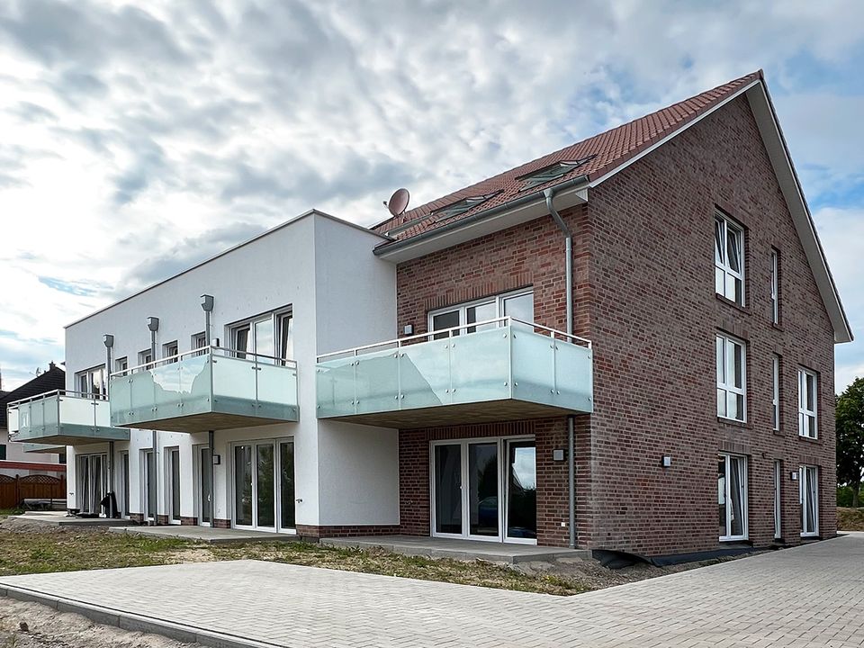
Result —
[[4, 389], [311, 207], [369, 225], [760, 67], [864, 340], [864, 3], [711, 4], [0, 0]]

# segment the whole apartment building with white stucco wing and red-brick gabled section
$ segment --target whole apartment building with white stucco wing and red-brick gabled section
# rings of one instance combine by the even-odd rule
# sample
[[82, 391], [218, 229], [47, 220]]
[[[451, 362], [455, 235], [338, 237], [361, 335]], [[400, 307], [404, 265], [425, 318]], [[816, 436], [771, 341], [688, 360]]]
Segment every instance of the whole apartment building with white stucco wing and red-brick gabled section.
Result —
[[110, 398], [22, 434], [71, 446], [76, 508], [651, 556], [836, 531], [852, 334], [761, 72], [373, 229], [310, 211], [66, 336]]

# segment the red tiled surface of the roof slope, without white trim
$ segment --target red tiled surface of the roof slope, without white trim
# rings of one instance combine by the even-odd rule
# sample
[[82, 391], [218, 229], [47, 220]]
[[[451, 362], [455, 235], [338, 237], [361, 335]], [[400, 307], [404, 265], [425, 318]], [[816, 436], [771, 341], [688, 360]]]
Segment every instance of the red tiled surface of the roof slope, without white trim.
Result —
[[[380, 233], [386, 233], [391, 229], [404, 228], [394, 232], [391, 236], [397, 240], [413, 238], [419, 234], [443, 227], [444, 225], [462, 220], [475, 213], [486, 211], [492, 207], [499, 206], [523, 195], [530, 195], [543, 191], [546, 187], [561, 184], [571, 178], [588, 175], [589, 180], [596, 180], [617, 166], [626, 163], [628, 159], [644, 151], [645, 148], [653, 146], [664, 137], [693, 121], [700, 114], [710, 110], [716, 103], [734, 94], [746, 85], [750, 85], [757, 79], [763, 79], [762, 71], [753, 72], [747, 76], [730, 81], [724, 85], [718, 85], [713, 90], [685, 99], [679, 103], [673, 103], [667, 108], [640, 119], [630, 121], [623, 126], [584, 139], [572, 144], [567, 148], [539, 157], [533, 162], [505, 171], [480, 183], [473, 184], [454, 193], [450, 193], [436, 201], [427, 202], [424, 205], [406, 211], [399, 217], [390, 218], [375, 225], [374, 229]], [[590, 160], [580, 166], [576, 166], [564, 175], [555, 177], [544, 184], [535, 184], [526, 188], [522, 178], [525, 175], [536, 173], [549, 166], [563, 162], [575, 162], [590, 157]], [[441, 217], [433, 214], [456, 202], [466, 198], [489, 196], [487, 200], [473, 205], [471, 209], [463, 211], [452, 217]], [[383, 246], [389, 243], [383, 243]]]

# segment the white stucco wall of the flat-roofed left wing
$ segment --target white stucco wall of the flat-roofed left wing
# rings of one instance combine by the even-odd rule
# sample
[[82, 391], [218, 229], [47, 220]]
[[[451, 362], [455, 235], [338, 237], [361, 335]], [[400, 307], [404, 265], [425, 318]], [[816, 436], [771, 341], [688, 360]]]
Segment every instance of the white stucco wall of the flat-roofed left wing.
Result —
[[[241, 440], [293, 437], [298, 525], [396, 524], [398, 521], [397, 439], [392, 430], [335, 425], [316, 417], [315, 361], [319, 353], [395, 336], [395, 268], [374, 257], [381, 238], [364, 229], [312, 212], [271, 230], [246, 245], [76, 322], [66, 330], [67, 387], [76, 372], [104, 363], [103, 335], [114, 336], [112, 357], [138, 365], [150, 347], [147, 319], [159, 318], [157, 356], [177, 340], [192, 348], [204, 328], [200, 295], [214, 296], [212, 338], [229, 346], [228, 326], [258, 314], [293, 307], [294, 359], [298, 365], [300, 420], [275, 426], [218, 430], [215, 454], [216, 518], [231, 518], [231, 444]], [[113, 368], [112, 368], [113, 369]], [[181, 515], [197, 517], [193, 446], [207, 435], [158, 433], [157, 513], [167, 515], [170, 493], [163, 474], [166, 448], [181, 460]], [[132, 430], [130, 442], [115, 444], [115, 490], [121, 497], [121, 452], [130, 454], [130, 510], [143, 512], [141, 451], [151, 432]], [[75, 456], [107, 451], [97, 446], [70, 449], [70, 507], [75, 504]], [[356, 502], [365, 493], [365, 502]]]

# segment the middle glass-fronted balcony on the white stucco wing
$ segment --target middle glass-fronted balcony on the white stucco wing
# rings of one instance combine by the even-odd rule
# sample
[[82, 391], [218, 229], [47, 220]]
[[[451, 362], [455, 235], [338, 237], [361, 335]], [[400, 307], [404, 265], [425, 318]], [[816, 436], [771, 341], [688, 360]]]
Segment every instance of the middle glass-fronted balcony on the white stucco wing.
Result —
[[111, 375], [118, 428], [205, 432], [298, 419], [297, 364], [221, 347], [188, 351]]

